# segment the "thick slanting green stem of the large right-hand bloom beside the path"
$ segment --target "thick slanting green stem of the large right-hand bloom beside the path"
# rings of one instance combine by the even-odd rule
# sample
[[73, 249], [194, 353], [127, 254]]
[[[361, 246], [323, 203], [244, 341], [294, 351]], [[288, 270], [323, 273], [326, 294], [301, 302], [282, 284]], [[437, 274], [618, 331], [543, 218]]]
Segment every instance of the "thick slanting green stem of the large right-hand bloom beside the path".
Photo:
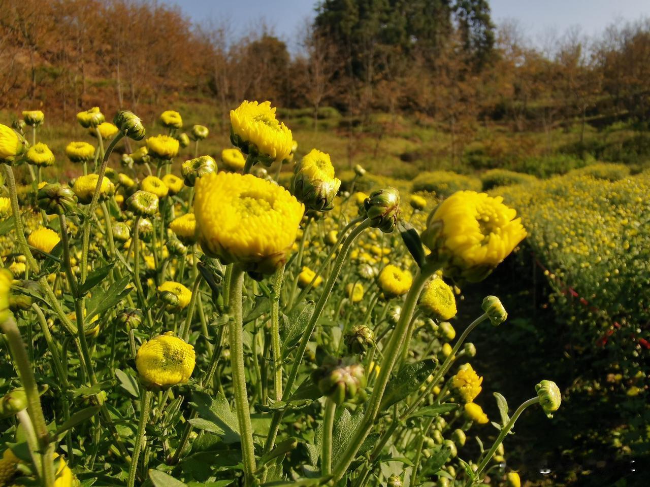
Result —
[[422, 293], [424, 285], [437, 270], [437, 268], [437, 262], [427, 262], [421, 269], [420, 273], [413, 280], [411, 289], [406, 295], [404, 306], [402, 306], [402, 314], [400, 316], [400, 319], [397, 322], [393, 333], [391, 334], [391, 338], [387, 343], [385, 350], [383, 351], [384, 358], [382, 360], [380, 373], [377, 377], [374, 387], [372, 388], [372, 395], [370, 395], [370, 399], [366, 403], [363, 419], [361, 419], [361, 423], [359, 423], [357, 426], [354, 436], [352, 436], [350, 443], [348, 443], [348, 447], [341, 454], [341, 460], [339, 460], [333, 469], [332, 476], [333, 481], [335, 482], [339, 481], [339, 479], [343, 477], [345, 471], [350, 466], [350, 463], [352, 463], [352, 460], [354, 460], [357, 451], [359, 451], [359, 447], [361, 447], [363, 441], [365, 438], [367, 438], [370, 429], [374, 424], [374, 420], [377, 418], [377, 415], [380, 412], [383, 392], [385, 391], [385, 388], [391, 377], [391, 372], [395, 367], [395, 362], [397, 361], [402, 343], [404, 342], [404, 338], [406, 338], [408, 326], [411, 321], [411, 317], [413, 316], [415, 306], [417, 305], [417, 300]]

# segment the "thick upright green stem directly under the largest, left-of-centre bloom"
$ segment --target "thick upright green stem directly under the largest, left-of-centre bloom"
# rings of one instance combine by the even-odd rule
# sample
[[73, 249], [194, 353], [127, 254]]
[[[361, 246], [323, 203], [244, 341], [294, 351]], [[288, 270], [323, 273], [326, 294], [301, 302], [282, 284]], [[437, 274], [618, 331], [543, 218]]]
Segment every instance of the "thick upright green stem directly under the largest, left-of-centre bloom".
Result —
[[230, 367], [233, 374], [235, 410], [237, 411], [237, 422], [239, 423], [239, 433], [241, 436], [244, 485], [250, 487], [253, 484], [253, 472], [255, 472], [255, 448], [253, 445], [253, 428], [250, 422], [250, 406], [248, 405], [246, 371], [244, 366], [243, 285], [244, 271], [239, 267], [234, 267], [230, 276], [230, 297], [228, 299], [229, 312], [232, 316], [232, 319], [228, 322]]

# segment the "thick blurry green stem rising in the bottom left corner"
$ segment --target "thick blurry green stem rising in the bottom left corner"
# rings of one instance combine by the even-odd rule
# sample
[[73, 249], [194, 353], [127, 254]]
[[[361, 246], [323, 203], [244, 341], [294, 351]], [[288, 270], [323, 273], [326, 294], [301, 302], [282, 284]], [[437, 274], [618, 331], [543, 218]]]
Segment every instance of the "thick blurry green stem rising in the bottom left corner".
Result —
[[[49, 453], [49, 443], [51, 438], [47, 432], [47, 423], [40, 403], [40, 396], [38, 395], [38, 386], [36, 379], [34, 379], [34, 372], [32, 371], [32, 364], [27, 358], [27, 350], [25, 343], [20, 336], [20, 331], [16, 326], [16, 321], [13, 318], [7, 318], [0, 324], [0, 329], [6, 336], [6, 341], [9, 345], [14, 368], [18, 372], [20, 382], [25, 389], [27, 395], [27, 414], [34, 425], [34, 434], [36, 434], [36, 442], [38, 443], [38, 451], [45, 455]], [[46, 487], [52, 487], [55, 481], [54, 462], [51, 455], [45, 455], [42, 458], [42, 479]]]

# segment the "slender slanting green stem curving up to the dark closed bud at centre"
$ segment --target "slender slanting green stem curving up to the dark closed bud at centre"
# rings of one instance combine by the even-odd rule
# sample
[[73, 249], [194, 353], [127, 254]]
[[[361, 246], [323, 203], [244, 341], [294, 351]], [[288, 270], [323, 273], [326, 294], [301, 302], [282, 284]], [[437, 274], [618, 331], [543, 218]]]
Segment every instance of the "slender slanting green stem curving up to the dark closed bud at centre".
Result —
[[[282, 395], [283, 400], [288, 399], [289, 395], [291, 395], [291, 389], [293, 387], [294, 381], [296, 380], [296, 377], [298, 376], [298, 369], [300, 369], [302, 358], [305, 355], [305, 350], [307, 349], [307, 343], [309, 343], [309, 338], [311, 338], [311, 334], [316, 327], [318, 318], [320, 318], [320, 314], [322, 313], [322, 310], [325, 307], [325, 303], [330, 297], [331, 290], [334, 288], [334, 284], [337, 278], [339, 277], [339, 273], [341, 273], [341, 268], [343, 268], [343, 263], [345, 262], [345, 259], [348, 256], [348, 251], [350, 251], [350, 246], [352, 245], [352, 242], [356, 240], [357, 236], [361, 234], [361, 232], [363, 232], [365, 229], [370, 227], [370, 223], [371, 223], [370, 220], [365, 219], [362, 223], [360, 223], [356, 227], [356, 229], [350, 232], [350, 234], [346, 237], [346, 239], [341, 244], [341, 251], [339, 252], [339, 255], [337, 256], [334, 262], [334, 267], [331, 271], [330, 277], [328, 278], [324, 286], [324, 289], [322, 290], [322, 293], [318, 298], [318, 302], [316, 303], [314, 312], [311, 315], [311, 319], [309, 319], [309, 323], [307, 323], [307, 327], [305, 328], [305, 331], [303, 332], [302, 337], [300, 338], [300, 343], [298, 344], [298, 349], [296, 350], [296, 353], [294, 355], [291, 371], [289, 371], [289, 377], [287, 377], [287, 384], [285, 385], [285, 390]], [[273, 414], [273, 418], [271, 419], [271, 425], [268, 429], [268, 435], [266, 436], [264, 453], [268, 453], [269, 451], [271, 451], [275, 445], [276, 437], [278, 436], [280, 422], [282, 421], [282, 416], [283, 416], [283, 412], [281, 410], [276, 411]]]

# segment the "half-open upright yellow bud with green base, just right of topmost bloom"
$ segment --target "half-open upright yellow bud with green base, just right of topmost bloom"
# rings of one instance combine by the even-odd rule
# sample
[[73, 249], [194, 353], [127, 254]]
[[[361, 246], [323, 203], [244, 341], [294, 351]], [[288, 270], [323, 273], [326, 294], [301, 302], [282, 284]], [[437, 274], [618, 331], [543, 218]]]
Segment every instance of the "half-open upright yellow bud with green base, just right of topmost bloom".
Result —
[[330, 155], [317, 149], [312, 149], [294, 168], [291, 192], [310, 210], [331, 210], [340, 187]]

